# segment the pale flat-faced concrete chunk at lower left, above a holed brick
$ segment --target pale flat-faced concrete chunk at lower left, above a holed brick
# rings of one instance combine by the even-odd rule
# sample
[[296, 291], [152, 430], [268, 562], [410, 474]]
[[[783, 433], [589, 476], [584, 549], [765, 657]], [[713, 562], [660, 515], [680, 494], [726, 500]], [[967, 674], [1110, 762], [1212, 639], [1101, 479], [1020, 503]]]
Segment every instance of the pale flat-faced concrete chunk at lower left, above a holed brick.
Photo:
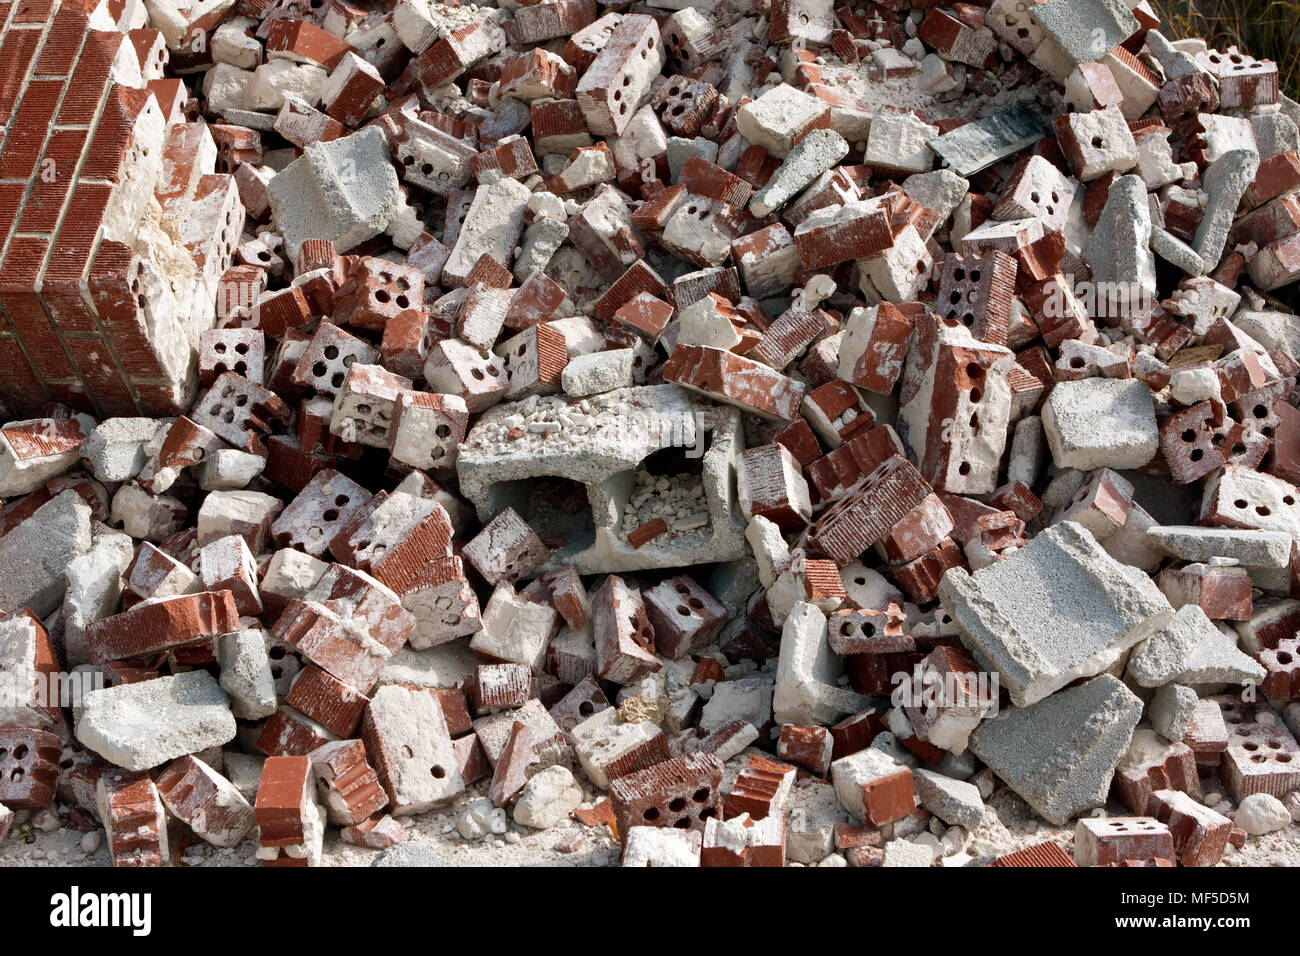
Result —
[[77, 739], [127, 770], [148, 770], [234, 736], [230, 701], [207, 671], [91, 691], [77, 717]]

